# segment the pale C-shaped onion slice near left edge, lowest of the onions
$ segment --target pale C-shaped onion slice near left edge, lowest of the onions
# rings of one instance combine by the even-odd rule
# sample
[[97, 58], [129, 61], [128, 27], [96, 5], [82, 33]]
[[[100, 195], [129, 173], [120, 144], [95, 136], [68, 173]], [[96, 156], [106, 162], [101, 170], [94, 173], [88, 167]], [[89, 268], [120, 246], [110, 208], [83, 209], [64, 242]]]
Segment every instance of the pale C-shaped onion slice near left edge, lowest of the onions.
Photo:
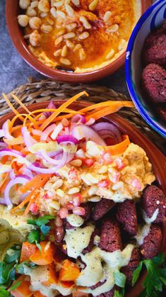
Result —
[[25, 184], [29, 180], [30, 180], [29, 176], [18, 175], [16, 176], [16, 179], [11, 179], [11, 181], [8, 182], [6, 189], [4, 191], [4, 199], [7, 206], [12, 205], [11, 199], [9, 198], [11, 187], [14, 186], [15, 184]]

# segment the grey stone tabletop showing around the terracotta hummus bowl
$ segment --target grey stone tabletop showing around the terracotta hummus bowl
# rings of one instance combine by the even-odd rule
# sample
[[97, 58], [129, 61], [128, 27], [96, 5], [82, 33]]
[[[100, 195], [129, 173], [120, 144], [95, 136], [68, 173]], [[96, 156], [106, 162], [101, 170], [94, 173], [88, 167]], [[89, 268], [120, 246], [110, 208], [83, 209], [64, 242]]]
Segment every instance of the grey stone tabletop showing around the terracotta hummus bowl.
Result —
[[[2, 91], [8, 93], [16, 86], [25, 84], [28, 77], [45, 78], [32, 69], [13, 47], [6, 28], [5, 2], [5, 0], [0, 0], [0, 96]], [[109, 86], [114, 91], [120, 91], [126, 95], [129, 94], [126, 87], [124, 67], [113, 75], [98, 81], [97, 84]]]

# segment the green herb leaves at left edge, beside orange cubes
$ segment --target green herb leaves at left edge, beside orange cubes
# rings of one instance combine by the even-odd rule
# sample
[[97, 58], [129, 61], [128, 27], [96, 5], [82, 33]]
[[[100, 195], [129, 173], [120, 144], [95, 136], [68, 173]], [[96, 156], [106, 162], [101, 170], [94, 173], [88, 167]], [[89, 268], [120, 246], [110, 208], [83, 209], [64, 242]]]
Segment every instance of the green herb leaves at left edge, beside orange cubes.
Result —
[[3, 262], [0, 262], [0, 286], [8, 288], [16, 279], [16, 265], [19, 259], [20, 245], [13, 245], [7, 250]]

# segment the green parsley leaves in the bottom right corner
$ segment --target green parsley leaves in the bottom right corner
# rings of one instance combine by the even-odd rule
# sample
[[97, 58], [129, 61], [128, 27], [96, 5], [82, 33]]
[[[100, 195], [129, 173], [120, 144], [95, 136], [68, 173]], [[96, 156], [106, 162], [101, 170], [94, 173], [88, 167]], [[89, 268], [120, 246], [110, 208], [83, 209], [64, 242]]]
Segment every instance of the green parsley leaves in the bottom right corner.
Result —
[[133, 273], [132, 286], [136, 284], [143, 265], [147, 269], [146, 279], [143, 281], [143, 292], [140, 297], [155, 297], [162, 292], [163, 285], [166, 285], [165, 254], [160, 253], [153, 259], [145, 259], [140, 262]]

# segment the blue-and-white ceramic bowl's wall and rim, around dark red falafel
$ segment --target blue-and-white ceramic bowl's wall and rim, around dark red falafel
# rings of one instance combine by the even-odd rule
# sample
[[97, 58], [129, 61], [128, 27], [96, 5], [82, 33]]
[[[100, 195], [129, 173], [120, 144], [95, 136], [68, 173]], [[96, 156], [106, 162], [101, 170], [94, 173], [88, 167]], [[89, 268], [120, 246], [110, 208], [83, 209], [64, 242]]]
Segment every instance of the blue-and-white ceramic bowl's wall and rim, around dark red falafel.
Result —
[[166, 138], [165, 123], [153, 113], [150, 103], [146, 101], [141, 89], [143, 43], [150, 31], [162, 25], [164, 18], [166, 18], [166, 0], [158, 0], [143, 13], [136, 24], [126, 50], [126, 83], [131, 99], [141, 116], [154, 130]]

